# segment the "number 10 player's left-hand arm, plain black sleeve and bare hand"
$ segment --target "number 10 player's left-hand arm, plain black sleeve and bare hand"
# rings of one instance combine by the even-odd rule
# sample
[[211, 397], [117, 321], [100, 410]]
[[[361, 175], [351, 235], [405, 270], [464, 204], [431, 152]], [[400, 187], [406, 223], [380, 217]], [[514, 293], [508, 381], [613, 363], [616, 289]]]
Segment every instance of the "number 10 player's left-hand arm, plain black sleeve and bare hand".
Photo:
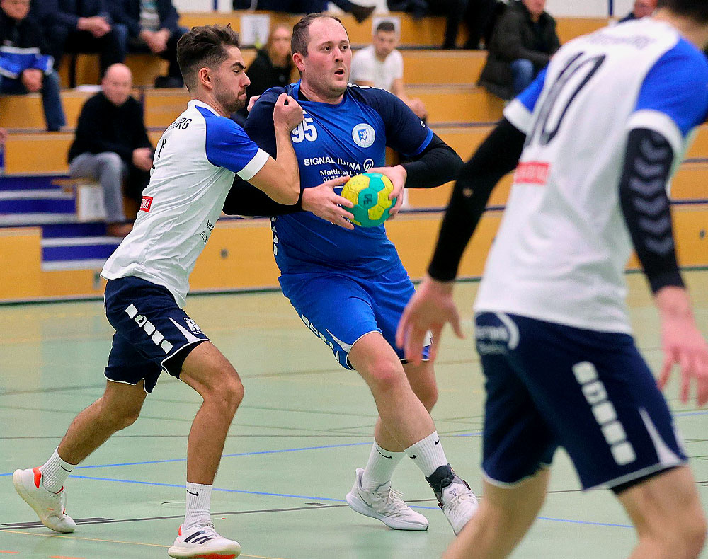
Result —
[[484, 212], [489, 195], [498, 181], [517, 166], [525, 134], [508, 120], [502, 120], [462, 168], [452, 190], [450, 205], [442, 219], [438, 243], [428, 267], [428, 277], [411, 298], [396, 331], [396, 344], [406, 359], [418, 363], [427, 330], [433, 333], [433, 350], [440, 342], [446, 322], [462, 337], [459, 317], [452, 302], [452, 280], [459, 261]]

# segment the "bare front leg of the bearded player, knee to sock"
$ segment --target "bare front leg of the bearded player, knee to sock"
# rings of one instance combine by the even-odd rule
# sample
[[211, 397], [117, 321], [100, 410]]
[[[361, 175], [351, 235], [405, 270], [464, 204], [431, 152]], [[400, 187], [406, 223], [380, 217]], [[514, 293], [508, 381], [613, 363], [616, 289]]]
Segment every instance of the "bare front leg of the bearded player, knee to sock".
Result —
[[229, 426], [244, 399], [244, 385], [236, 369], [211, 342], [202, 342], [190, 352], [180, 379], [204, 398], [189, 432], [187, 480], [212, 485]]

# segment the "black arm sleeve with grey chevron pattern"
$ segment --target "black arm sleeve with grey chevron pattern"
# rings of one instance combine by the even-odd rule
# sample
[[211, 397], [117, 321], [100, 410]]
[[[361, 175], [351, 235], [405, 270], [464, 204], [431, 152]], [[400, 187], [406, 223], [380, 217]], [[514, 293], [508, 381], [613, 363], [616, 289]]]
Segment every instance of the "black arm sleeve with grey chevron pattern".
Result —
[[649, 129], [629, 132], [619, 200], [634, 250], [652, 292], [683, 287], [678, 270], [666, 183], [674, 153], [668, 140]]

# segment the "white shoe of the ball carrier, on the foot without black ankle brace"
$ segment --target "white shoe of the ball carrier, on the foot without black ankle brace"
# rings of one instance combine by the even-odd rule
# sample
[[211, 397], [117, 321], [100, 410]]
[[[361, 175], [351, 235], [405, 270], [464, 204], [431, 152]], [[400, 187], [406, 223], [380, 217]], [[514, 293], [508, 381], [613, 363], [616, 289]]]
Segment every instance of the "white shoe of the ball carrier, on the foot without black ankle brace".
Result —
[[365, 490], [361, 485], [362, 468], [356, 470], [356, 481], [347, 493], [347, 504], [359, 514], [382, 521], [394, 530], [427, 530], [428, 519], [406, 505], [401, 494], [391, 488], [391, 482], [376, 489]]

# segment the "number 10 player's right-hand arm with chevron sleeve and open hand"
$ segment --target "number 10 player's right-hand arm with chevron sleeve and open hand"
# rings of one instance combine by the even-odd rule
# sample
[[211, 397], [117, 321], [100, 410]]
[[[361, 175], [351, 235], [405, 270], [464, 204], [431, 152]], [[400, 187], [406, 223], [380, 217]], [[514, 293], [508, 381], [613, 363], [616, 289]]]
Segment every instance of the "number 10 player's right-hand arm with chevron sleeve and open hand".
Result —
[[619, 200], [661, 319], [664, 362], [659, 385], [666, 386], [678, 364], [681, 401], [687, 402], [695, 380], [697, 403], [704, 405], [708, 402], [708, 345], [696, 326], [678, 269], [666, 193], [673, 162], [674, 151], [662, 134], [632, 130], [619, 180]]

